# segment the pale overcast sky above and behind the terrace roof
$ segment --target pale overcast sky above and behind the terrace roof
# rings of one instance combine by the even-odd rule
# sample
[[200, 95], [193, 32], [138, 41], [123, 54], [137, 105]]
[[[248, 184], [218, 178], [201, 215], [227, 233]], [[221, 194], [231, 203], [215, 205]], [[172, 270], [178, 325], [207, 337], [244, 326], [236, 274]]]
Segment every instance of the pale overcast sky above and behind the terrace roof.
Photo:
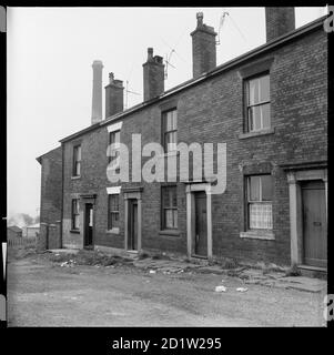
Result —
[[[264, 8], [8, 8], [8, 212], [37, 215], [40, 165], [36, 158], [91, 122], [93, 60], [129, 81], [128, 106], [143, 93], [146, 50], [165, 58], [165, 89], [191, 79], [191, 37], [196, 12], [219, 29], [217, 64], [265, 42]], [[324, 14], [323, 8], [296, 8], [296, 27]], [[124, 100], [125, 102], [125, 100]], [[104, 118], [104, 90], [103, 90]]]

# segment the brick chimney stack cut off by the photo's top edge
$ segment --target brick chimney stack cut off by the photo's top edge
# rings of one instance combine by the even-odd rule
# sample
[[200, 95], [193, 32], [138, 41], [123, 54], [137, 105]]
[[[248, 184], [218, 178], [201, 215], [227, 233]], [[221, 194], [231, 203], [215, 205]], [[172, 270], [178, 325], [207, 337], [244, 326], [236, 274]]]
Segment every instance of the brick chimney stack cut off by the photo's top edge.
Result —
[[270, 42], [295, 29], [294, 8], [265, 8], [266, 41]]

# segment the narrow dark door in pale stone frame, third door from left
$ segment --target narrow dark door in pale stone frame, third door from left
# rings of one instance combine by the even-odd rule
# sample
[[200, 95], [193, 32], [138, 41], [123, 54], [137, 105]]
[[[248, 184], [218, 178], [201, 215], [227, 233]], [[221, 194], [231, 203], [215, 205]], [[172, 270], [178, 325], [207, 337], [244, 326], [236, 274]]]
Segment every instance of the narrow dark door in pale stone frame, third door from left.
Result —
[[195, 193], [195, 255], [208, 256], [206, 194]]

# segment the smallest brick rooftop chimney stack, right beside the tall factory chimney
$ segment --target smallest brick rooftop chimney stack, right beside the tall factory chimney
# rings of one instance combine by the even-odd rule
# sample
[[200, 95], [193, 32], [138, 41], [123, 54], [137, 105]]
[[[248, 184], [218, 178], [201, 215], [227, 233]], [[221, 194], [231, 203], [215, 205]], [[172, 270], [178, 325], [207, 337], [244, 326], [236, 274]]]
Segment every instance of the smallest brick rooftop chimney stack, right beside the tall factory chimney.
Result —
[[123, 81], [117, 80], [109, 73], [109, 84], [105, 89], [105, 119], [124, 110]]

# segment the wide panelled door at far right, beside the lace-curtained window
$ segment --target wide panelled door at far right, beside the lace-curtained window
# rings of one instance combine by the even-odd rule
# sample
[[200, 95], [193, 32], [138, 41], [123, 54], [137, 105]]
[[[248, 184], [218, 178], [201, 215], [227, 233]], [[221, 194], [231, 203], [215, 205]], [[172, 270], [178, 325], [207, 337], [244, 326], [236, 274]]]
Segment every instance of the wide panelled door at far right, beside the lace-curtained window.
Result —
[[304, 263], [326, 267], [327, 223], [323, 181], [302, 184]]

